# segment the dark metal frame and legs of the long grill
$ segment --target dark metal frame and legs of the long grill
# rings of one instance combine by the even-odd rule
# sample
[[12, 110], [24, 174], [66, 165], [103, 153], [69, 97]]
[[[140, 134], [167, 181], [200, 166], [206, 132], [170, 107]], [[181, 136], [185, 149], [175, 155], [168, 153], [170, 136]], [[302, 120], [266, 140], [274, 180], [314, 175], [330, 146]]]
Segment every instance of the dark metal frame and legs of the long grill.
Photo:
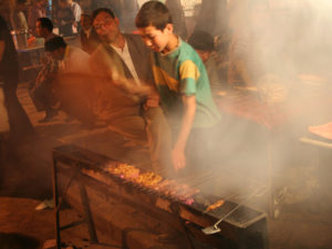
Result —
[[[79, 154], [77, 154], [79, 153]], [[86, 155], [91, 158], [86, 159], [83, 158], [81, 155]], [[97, 168], [98, 165], [104, 165], [111, 160], [111, 158], [95, 154], [87, 149], [81, 148], [75, 145], [64, 145], [60, 147], [53, 148], [53, 200], [54, 200], [54, 218], [55, 218], [55, 240], [56, 240], [56, 248], [61, 249], [61, 230], [65, 228], [75, 226], [77, 224], [85, 222], [89, 228], [90, 240], [93, 243], [98, 243], [98, 239], [95, 231], [95, 226], [93, 221], [93, 214], [90, 208], [90, 199], [86, 194], [85, 187], [92, 187], [98, 191], [107, 193], [107, 195], [112, 195], [121, 203], [136, 205], [139, 207], [141, 210], [148, 214], [152, 217], [163, 218], [167, 220], [167, 222], [174, 227], [175, 229], [183, 231], [187, 235], [188, 242], [190, 242], [189, 238], [189, 230], [190, 234], [196, 235], [195, 237], [209, 237], [203, 238], [201, 240], [210, 240], [212, 245], [218, 245], [218, 237], [219, 240], [221, 237], [226, 237], [232, 241], [236, 241], [238, 248], [250, 248], [246, 246], [247, 238], [250, 237], [252, 234], [259, 234], [259, 240], [261, 241], [261, 246], [259, 248], [268, 249], [268, 230], [267, 230], [267, 216], [264, 214], [259, 215], [256, 219], [251, 220], [250, 222], [243, 225], [232, 224], [231, 220], [226, 219], [220, 224], [221, 232], [215, 236], [203, 236], [200, 229], [203, 227], [211, 226], [214, 222], [218, 220], [218, 217], [211, 217], [208, 215], [203, 215], [201, 212], [186, 206], [179, 201], [174, 201], [165, 197], [156, 196], [156, 198], [151, 197], [149, 194], [145, 194], [144, 189], [129, 187], [128, 185], [122, 185], [122, 179], [116, 176], [111, 176], [112, 180], [117, 181], [115, 185], [117, 189], [112, 189], [105, 183], [101, 183], [93, 177], [84, 174], [82, 168], [91, 169], [91, 167]], [[59, 189], [59, 174], [65, 174], [70, 176], [70, 180], [66, 186], [63, 188], [62, 196], [60, 196]], [[65, 227], [61, 227], [60, 225], [60, 208], [62, 200], [66, 195], [68, 188], [71, 186], [73, 180], [77, 180], [80, 183], [80, 196], [83, 206], [83, 220], [74, 221], [72, 225], [68, 225]], [[146, 201], [135, 201], [135, 198], [131, 197], [135, 191], [135, 196], [139, 195], [141, 197], [147, 196], [145, 198]], [[118, 194], [121, 193], [121, 194]], [[166, 201], [165, 206], [157, 207], [156, 201], [157, 198], [163, 199]], [[167, 203], [168, 201], [168, 203]], [[166, 208], [167, 207], [167, 208]], [[247, 208], [247, 207], [243, 207]], [[248, 208], [250, 209], [250, 208]], [[197, 212], [197, 214], [196, 214]], [[187, 226], [185, 224], [186, 220], [190, 220], [191, 225]], [[111, 245], [110, 245], [111, 246]], [[256, 247], [257, 248], [257, 247]]]

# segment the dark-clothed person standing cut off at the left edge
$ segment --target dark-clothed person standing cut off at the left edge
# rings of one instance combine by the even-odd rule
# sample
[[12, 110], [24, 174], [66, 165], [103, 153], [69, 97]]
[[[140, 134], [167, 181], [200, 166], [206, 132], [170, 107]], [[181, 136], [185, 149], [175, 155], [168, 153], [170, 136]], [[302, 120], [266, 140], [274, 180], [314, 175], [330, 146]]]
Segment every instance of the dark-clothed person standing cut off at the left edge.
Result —
[[0, 75], [3, 79], [4, 103], [8, 113], [10, 136], [21, 139], [33, 134], [33, 126], [17, 96], [19, 60], [6, 20], [0, 15]]

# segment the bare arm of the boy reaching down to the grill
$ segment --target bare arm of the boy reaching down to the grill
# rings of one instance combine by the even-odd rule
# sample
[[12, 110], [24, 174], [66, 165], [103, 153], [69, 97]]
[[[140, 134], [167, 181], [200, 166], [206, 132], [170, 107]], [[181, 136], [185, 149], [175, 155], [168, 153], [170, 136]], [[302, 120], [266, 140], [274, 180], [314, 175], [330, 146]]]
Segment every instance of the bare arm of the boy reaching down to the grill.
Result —
[[186, 167], [185, 148], [196, 113], [195, 95], [183, 95], [183, 102], [185, 106], [185, 113], [183, 116], [181, 127], [177, 136], [177, 141], [172, 151], [172, 162], [176, 172], [180, 168]]

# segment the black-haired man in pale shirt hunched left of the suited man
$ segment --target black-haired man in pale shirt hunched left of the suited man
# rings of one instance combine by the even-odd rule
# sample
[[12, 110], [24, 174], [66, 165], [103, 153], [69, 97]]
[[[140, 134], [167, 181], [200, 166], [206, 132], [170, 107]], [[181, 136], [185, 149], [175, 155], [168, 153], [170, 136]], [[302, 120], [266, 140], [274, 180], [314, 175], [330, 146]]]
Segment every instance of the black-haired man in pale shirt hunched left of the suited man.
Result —
[[[90, 124], [93, 117], [89, 114], [87, 91], [89, 58], [80, 48], [70, 46], [63, 38], [54, 37], [45, 42], [45, 51], [58, 62], [59, 70], [53, 77], [53, 87], [61, 108], [69, 117], [79, 118], [84, 124]], [[82, 76], [83, 75], [83, 76]]]

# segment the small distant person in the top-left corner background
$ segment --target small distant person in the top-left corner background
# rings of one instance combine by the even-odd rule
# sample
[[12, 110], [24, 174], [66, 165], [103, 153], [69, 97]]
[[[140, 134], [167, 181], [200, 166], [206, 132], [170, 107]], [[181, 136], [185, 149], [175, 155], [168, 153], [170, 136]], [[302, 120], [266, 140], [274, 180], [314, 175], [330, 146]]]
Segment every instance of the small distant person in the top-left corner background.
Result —
[[29, 31], [28, 21], [24, 14], [27, 0], [18, 0], [17, 7], [10, 15], [11, 28], [14, 31]]

